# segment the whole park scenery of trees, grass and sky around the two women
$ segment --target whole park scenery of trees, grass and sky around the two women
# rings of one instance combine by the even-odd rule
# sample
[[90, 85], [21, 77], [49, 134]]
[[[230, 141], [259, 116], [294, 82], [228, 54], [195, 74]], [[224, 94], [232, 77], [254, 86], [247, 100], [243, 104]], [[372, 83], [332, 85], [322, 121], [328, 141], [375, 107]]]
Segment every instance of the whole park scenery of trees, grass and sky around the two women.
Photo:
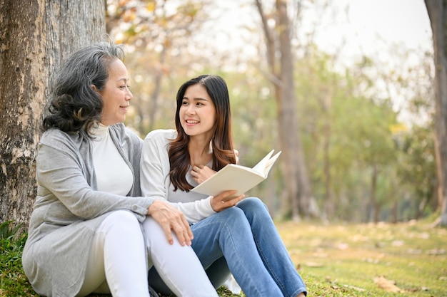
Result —
[[[445, 24], [442, 1], [426, 2]], [[228, 83], [240, 162], [283, 150], [248, 194], [268, 205], [311, 296], [447, 296], [435, 142], [447, 136], [424, 1], [0, 0], [0, 11], [1, 297], [35, 296], [20, 258], [51, 73], [106, 34], [126, 46], [126, 125], [141, 137], [174, 127], [176, 90], [211, 73]]]

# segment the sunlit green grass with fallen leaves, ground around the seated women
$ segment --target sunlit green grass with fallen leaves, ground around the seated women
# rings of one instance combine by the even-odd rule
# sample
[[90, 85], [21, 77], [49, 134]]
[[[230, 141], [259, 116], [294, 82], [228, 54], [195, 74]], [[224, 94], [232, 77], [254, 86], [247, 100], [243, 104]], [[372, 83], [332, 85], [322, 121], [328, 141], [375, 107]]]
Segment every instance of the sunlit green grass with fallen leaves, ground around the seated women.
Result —
[[[37, 296], [21, 269], [26, 236], [9, 224], [0, 225], [0, 297]], [[447, 229], [427, 222], [276, 226], [308, 296], [447, 297]], [[220, 288], [219, 296], [236, 295]]]

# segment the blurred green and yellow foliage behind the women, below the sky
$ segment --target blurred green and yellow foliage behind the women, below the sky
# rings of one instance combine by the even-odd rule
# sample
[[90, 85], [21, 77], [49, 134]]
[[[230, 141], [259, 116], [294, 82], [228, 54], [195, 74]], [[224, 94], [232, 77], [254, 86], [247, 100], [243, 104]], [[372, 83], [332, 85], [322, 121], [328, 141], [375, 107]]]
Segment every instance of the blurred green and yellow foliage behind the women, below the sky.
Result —
[[[173, 128], [181, 83], [212, 73], [228, 84], [241, 163], [253, 166], [269, 150], [281, 150], [261, 27], [241, 28], [253, 36], [247, 42], [258, 51], [246, 55], [214, 44], [209, 28], [217, 20], [210, 11], [219, 8], [213, 1], [107, 4], [109, 33], [126, 43], [132, 76], [134, 99], [126, 125], [141, 137], [150, 130]], [[432, 54], [391, 45], [392, 65], [363, 56], [353, 67], [339, 69], [336, 57], [313, 43], [294, 46], [296, 132], [301, 133], [322, 219], [396, 222], [435, 212]], [[409, 63], [414, 56], [420, 62]], [[266, 182], [248, 193], [261, 197], [273, 217], [281, 215], [281, 167], [280, 157]]]

